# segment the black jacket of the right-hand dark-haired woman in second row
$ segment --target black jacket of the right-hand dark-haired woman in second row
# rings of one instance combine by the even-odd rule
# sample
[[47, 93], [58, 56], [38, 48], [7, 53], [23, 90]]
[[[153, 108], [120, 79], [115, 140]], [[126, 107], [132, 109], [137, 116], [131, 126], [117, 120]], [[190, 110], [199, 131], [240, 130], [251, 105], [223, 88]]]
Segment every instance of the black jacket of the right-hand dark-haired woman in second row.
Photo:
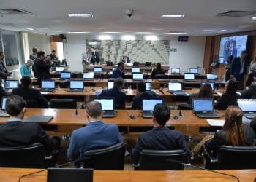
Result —
[[224, 93], [218, 99], [216, 108], [219, 110], [226, 110], [228, 106], [238, 106], [237, 100], [241, 98], [238, 94], [227, 94]]

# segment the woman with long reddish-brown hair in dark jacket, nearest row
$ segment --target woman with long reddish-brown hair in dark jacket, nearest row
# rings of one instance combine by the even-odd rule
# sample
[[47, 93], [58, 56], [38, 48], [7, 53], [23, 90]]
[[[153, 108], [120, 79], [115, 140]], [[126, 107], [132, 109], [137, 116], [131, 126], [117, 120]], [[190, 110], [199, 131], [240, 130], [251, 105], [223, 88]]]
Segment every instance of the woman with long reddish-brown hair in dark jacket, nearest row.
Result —
[[214, 138], [206, 141], [206, 151], [216, 155], [220, 146], [253, 146], [255, 133], [249, 125], [242, 125], [243, 111], [238, 106], [229, 106], [225, 124]]

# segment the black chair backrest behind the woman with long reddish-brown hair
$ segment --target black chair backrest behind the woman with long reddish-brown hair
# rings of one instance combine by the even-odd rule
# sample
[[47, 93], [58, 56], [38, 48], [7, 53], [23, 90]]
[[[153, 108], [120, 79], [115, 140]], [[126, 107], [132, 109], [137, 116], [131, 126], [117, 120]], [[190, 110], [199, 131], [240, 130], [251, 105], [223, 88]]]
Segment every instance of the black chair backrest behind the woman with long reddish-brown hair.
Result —
[[217, 169], [256, 169], [255, 146], [221, 146], [217, 151]]

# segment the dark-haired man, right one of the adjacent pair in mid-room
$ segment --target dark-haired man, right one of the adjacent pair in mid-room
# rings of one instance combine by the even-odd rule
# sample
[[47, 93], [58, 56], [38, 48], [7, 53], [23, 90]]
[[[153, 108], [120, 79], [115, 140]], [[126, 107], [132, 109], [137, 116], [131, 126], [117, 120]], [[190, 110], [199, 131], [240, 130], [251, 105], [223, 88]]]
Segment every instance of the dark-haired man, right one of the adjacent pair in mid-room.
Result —
[[136, 94], [133, 98], [132, 109], [142, 108], [142, 98], [158, 98], [157, 94], [153, 91], [146, 91], [146, 83], [144, 81], [137, 82]]

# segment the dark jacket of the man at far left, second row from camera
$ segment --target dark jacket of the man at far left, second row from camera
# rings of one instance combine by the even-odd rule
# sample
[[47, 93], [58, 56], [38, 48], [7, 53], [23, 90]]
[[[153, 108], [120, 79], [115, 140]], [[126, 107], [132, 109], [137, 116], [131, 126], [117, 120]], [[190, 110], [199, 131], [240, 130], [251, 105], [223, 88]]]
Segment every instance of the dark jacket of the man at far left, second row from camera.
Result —
[[47, 108], [47, 100], [42, 96], [39, 90], [30, 87], [18, 87], [17, 89], [12, 90], [12, 94], [19, 95], [25, 100], [36, 100], [39, 108]]

